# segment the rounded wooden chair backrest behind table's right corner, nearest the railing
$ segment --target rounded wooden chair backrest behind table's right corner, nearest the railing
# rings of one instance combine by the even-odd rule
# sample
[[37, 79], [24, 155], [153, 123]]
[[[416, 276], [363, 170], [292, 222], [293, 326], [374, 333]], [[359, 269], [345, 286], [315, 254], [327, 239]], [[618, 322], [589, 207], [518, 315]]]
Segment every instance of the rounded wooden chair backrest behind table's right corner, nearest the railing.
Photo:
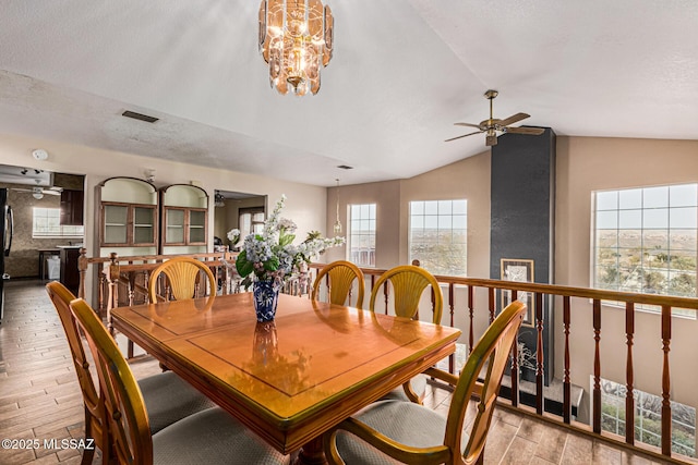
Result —
[[419, 308], [422, 292], [431, 285], [434, 296], [434, 315], [432, 321], [441, 325], [441, 315], [444, 309], [444, 296], [436, 278], [423, 268], [413, 265], [402, 265], [387, 270], [373, 285], [369, 310], [375, 311], [375, 299], [383, 283], [390, 281], [393, 285], [393, 298], [395, 301], [395, 315], [398, 317], [414, 318]]

